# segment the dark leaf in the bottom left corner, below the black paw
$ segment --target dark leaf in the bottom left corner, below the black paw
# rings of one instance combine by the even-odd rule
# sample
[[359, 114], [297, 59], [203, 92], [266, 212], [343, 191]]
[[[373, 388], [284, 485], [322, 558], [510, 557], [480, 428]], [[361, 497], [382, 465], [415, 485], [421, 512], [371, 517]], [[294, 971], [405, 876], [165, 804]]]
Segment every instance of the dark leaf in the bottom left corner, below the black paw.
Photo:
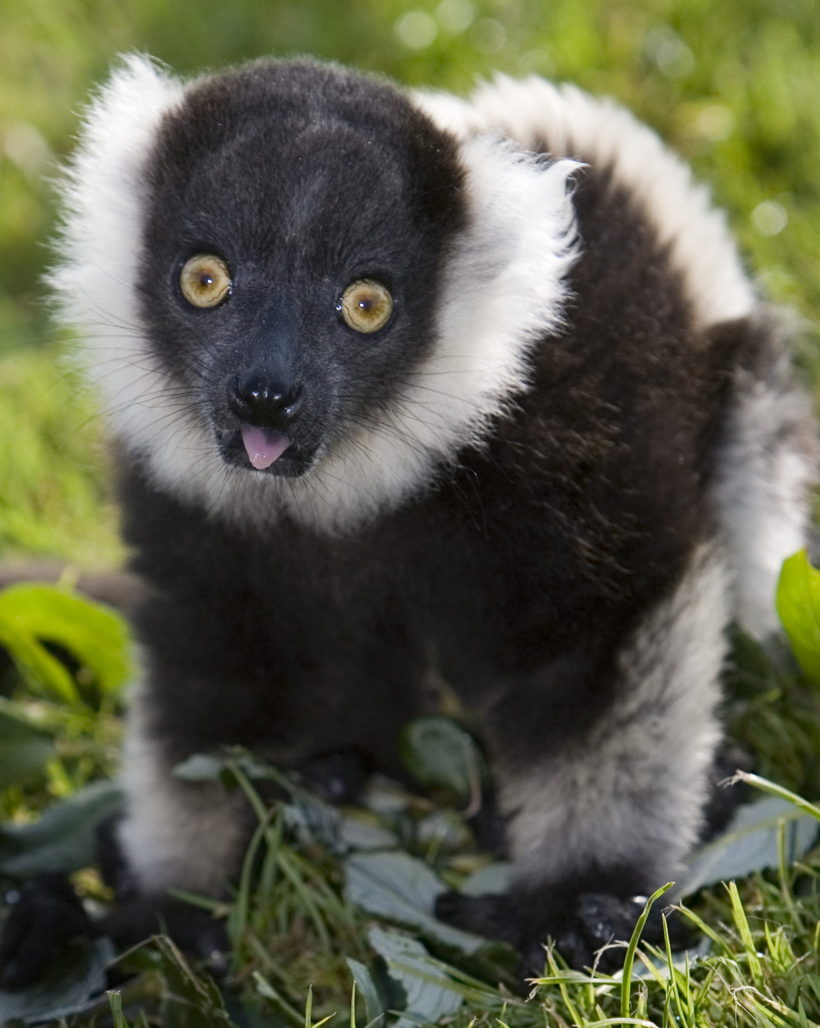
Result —
[[105, 969], [113, 959], [108, 939], [64, 950], [42, 982], [14, 992], [0, 990], [0, 1024], [42, 1024], [89, 1009], [104, 998]]

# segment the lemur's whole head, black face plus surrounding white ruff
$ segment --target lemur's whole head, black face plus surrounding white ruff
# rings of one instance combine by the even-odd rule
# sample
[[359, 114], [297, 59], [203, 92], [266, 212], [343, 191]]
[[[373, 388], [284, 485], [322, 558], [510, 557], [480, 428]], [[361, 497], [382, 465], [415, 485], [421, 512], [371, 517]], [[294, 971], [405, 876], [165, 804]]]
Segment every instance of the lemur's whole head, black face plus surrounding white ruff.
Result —
[[571, 259], [571, 167], [333, 66], [184, 84], [132, 59], [86, 120], [53, 281], [159, 487], [339, 527], [525, 387]]

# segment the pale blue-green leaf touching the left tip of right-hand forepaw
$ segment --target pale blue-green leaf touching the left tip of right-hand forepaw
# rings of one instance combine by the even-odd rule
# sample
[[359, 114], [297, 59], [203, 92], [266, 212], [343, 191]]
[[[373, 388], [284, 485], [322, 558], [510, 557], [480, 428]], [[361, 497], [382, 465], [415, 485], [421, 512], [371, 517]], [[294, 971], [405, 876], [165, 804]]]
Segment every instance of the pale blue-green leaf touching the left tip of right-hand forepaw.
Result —
[[353, 853], [344, 861], [344, 880], [350, 902], [371, 914], [412, 925], [468, 954], [476, 953], [484, 943], [480, 935], [436, 920], [436, 897], [447, 886], [423, 860], [409, 853]]

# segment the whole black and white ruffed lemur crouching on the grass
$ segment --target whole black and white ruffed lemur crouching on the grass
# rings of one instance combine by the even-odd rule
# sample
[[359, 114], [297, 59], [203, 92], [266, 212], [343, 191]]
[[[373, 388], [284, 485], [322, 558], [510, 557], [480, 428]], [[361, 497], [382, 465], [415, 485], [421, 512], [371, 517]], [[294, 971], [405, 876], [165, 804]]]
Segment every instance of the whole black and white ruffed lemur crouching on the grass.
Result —
[[699, 839], [725, 629], [775, 630], [807, 531], [809, 404], [707, 191], [537, 78], [131, 58], [64, 197], [52, 284], [150, 589], [111, 930], [210, 945], [166, 890], [222, 893], [250, 817], [180, 761], [398, 773], [439, 676], [514, 861], [439, 915], [588, 962]]

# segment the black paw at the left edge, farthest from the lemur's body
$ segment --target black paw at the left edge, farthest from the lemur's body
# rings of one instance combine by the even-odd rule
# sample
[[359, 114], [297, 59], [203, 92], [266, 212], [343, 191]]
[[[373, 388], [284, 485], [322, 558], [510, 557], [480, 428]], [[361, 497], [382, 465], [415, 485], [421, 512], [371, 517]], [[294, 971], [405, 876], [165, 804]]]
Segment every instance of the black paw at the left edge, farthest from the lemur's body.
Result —
[[40, 875], [6, 894], [9, 912], [0, 932], [0, 988], [23, 989], [39, 981], [51, 959], [73, 939], [95, 933], [71, 882]]

